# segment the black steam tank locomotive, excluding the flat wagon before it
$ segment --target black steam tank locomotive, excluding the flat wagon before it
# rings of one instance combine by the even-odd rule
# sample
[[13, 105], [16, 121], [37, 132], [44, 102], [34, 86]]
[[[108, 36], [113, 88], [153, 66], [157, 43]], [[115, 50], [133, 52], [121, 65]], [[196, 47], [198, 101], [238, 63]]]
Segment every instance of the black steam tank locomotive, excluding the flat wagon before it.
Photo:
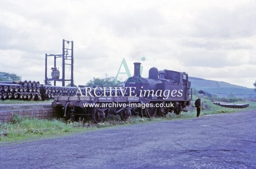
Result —
[[156, 112], [165, 116], [172, 111], [175, 114], [187, 111], [186, 106], [190, 105], [192, 97], [188, 74], [172, 70], [158, 71], [153, 67], [149, 70], [148, 78], [142, 78], [140, 64], [134, 63], [134, 76], [125, 81], [125, 87], [134, 87], [135, 94], [154, 105], [148, 110], [151, 112], [148, 116], [154, 117]]

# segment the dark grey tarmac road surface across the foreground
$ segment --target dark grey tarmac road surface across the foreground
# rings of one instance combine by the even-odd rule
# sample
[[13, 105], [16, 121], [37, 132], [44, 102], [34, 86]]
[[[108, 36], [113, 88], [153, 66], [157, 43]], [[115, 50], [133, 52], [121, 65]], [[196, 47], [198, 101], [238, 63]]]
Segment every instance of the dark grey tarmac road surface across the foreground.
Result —
[[255, 168], [256, 110], [0, 146], [6, 168]]

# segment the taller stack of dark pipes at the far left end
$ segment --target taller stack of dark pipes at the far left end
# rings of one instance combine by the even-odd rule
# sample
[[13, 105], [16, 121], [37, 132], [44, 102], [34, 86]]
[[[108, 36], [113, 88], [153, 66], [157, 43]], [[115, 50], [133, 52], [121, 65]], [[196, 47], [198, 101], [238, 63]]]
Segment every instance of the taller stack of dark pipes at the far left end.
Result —
[[1, 81], [0, 99], [39, 100], [41, 85], [35, 81]]

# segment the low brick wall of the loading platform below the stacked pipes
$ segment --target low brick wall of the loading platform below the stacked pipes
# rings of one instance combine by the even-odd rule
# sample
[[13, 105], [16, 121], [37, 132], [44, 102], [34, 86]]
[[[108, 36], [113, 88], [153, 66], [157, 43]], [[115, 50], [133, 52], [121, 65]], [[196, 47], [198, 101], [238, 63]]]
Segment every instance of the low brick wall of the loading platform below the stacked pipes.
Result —
[[11, 121], [13, 115], [39, 119], [59, 118], [61, 108], [52, 108], [51, 104], [0, 104], [0, 121]]

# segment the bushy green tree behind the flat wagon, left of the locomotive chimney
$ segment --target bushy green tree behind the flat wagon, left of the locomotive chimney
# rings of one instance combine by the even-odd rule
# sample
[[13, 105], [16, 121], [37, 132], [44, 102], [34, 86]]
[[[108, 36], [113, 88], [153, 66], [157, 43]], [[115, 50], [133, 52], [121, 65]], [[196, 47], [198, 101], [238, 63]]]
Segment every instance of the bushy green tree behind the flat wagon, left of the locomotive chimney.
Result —
[[86, 84], [89, 87], [120, 87], [120, 81], [116, 80], [114, 76], [108, 77], [106, 74], [106, 78], [93, 78]]

